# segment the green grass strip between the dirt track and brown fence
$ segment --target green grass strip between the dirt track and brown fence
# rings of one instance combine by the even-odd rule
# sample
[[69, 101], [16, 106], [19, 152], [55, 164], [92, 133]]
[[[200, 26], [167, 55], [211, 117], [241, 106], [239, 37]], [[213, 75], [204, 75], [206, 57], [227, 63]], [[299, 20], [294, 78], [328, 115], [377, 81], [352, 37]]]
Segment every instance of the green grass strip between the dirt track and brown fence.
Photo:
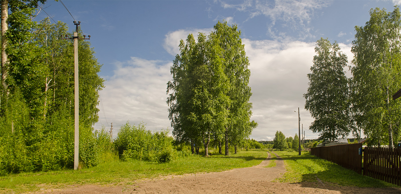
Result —
[[308, 152], [302, 152], [300, 156], [298, 152], [294, 151], [275, 151], [275, 153], [284, 159], [288, 171], [281, 178], [276, 179], [279, 182], [317, 182], [317, 178], [319, 178], [326, 184], [332, 183], [340, 186], [399, 188], [396, 185], [357, 174]]

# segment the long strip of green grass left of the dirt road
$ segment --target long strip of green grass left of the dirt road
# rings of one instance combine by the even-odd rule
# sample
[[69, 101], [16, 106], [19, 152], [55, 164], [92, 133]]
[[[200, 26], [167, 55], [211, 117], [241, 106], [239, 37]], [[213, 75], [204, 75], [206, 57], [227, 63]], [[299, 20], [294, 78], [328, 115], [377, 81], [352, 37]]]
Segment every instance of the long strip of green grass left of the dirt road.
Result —
[[241, 151], [236, 155], [190, 155], [171, 163], [147, 161], [113, 161], [81, 170], [60, 170], [10, 174], [0, 177], [0, 193], [21, 193], [41, 188], [63, 188], [71, 184], [133, 184], [141, 178], [166, 175], [221, 172], [234, 168], [251, 167], [266, 159], [267, 151]]

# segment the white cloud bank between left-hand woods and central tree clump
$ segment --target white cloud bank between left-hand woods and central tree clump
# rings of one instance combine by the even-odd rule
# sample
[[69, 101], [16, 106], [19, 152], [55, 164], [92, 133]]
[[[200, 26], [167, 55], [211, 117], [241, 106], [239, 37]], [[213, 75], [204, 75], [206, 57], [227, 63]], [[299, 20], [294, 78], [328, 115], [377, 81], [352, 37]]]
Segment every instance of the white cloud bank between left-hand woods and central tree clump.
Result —
[[95, 129], [101, 124], [108, 128], [113, 122], [115, 137], [119, 126], [128, 120], [131, 125], [143, 121], [149, 130], [170, 127], [166, 84], [170, 80], [171, 65], [172, 62], [138, 57], [117, 61], [114, 75], [106, 78], [105, 88], [99, 92], [108, 123], [99, 106], [100, 121], [95, 124]]

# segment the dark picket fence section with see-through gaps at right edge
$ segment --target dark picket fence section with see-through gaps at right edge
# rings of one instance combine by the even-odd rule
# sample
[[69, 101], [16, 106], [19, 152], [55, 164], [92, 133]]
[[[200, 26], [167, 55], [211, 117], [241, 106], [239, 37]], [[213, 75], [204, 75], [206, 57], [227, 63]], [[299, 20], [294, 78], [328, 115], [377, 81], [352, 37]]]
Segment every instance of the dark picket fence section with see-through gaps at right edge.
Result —
[[401, 149], [365, 147], [363, 175], [401, 186]]

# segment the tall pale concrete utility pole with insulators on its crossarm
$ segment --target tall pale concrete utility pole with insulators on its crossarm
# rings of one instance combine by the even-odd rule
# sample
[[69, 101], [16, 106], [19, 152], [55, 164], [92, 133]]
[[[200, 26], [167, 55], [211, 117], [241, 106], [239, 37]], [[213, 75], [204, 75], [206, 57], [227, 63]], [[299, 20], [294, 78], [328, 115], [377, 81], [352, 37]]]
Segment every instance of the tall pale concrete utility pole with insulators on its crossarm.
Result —
[[[81, 21], [74, 21], [76, 32], [72, 38], [68, 38], [68, 35], [65, 35], [66, 38], [62, 39], [70, 39], [74, 40], [74, 170], [78, 169], [78, 160], [79, 160], [79, 80], [78, 80], [78, 25], [81, 24]], [[83, 39], [86, 35], [83, 35]], [[81, 39], [81, 40], [83, 40]]]

